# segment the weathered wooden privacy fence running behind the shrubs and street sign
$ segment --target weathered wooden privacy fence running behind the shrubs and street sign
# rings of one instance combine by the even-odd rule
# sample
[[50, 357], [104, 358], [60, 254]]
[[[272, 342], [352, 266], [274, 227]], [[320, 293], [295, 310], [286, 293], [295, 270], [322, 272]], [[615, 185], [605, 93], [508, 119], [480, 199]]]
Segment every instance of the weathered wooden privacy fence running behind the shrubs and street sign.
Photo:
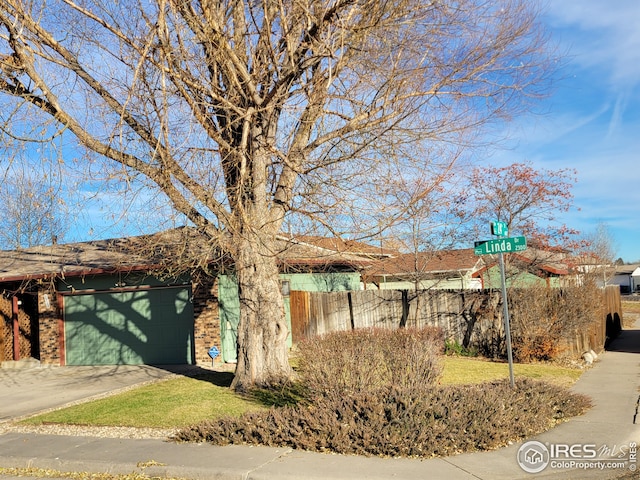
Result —
[[[618, 325], [622, 318], [620, 292], [603, 292], [601, 320], [575, 332], [562, 342], [563, 350], [579, 357], [583, 352], [600, 351], [607, 335], [606, 325]], [[400, 328], [436, 326], [445, 337], [465, 347], [478, 347], [498, 355], [504, 348], [502, 298], [489, 290], [361, 290], [349, 292], [302, 292], [290, 294], [293, 342], [309, 336], [358, 328]]]

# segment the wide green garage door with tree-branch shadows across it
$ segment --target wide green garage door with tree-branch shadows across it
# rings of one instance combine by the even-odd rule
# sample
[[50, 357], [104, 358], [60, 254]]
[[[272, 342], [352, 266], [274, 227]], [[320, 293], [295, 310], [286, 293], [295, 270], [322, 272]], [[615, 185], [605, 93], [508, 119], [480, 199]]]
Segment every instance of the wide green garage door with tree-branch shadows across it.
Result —
[[193, 363], [188, 287], [64, 298], [67, 365]]

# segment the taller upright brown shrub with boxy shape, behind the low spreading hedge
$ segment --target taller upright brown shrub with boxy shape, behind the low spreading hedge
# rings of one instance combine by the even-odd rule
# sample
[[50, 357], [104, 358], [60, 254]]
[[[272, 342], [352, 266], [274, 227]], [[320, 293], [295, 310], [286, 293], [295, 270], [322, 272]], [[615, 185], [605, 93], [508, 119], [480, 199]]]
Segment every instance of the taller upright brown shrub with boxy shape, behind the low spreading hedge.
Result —
[[422, 388], [442, 373], [443, 346], [433, 327], [335, 332], [299, 344], [299, 373], [313, 398]]

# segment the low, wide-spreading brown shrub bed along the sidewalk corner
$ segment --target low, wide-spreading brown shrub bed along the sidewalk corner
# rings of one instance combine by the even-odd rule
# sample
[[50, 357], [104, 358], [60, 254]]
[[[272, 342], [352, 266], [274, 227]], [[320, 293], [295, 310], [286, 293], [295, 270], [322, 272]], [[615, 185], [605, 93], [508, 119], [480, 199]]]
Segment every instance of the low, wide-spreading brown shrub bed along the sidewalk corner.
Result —
[[488, 450], [579, 415], [586, 397], [518, 379], [416, 390], [384, 387], [273, 408], [178, 432], [177, 441], [248, 443], [378, 456], [445, 456]]

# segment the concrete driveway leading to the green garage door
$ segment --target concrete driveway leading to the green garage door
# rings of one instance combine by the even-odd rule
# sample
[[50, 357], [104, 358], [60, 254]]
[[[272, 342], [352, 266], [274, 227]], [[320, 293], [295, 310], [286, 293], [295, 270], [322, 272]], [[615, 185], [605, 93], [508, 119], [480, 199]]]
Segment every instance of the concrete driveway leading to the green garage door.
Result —
[[0, 423], [161, 380], [174, 375], [170, 370], [147, 365], [0, 368]]

